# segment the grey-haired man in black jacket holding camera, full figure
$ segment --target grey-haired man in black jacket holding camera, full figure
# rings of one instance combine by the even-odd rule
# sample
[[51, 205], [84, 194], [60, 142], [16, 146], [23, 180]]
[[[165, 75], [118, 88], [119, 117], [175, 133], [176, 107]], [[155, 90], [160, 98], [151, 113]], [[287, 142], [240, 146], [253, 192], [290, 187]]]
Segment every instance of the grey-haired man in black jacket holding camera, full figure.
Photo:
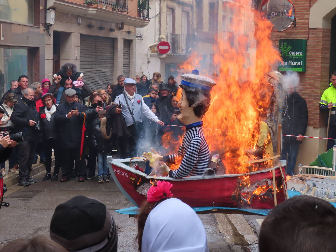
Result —
[[13, 133], [22, 132], [24, 140], [19, 143], [19, 185], [28, 186], [37, 182], [30, 172], [34, 162], [36, 144], [41, 136], [39, 116], [35, 107], [35, 91], [26, 88], [22, 100], [14, 105], [10, 120], [14, 123]]

